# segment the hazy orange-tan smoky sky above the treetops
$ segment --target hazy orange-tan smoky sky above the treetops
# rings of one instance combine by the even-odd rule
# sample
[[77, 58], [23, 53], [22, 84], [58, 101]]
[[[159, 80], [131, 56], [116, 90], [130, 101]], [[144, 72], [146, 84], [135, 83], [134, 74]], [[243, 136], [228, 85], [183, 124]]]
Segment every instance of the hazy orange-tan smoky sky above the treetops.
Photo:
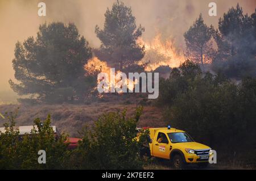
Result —
[[[46, 3], [46, 16], [38, 16], [38, 3]], [[115, 0], [0, 0], [0, 90], [10, 90], [8, 80], [14, 79], [11, 61], [17, 41], [36, 36], [39, 24], [44, 22], [75, 23], [91, 47], [98, 47], [94, 28], [102, 27], [104, 13]], [[123, 0], [130, 6], [137, 24], [145, 28], [144, 40], [151, 40], [156, 33], [175, 40], [177, 48], [184, 48], [183, 33], [200, 13], [205, 22], [218, 26], [218, 19], [237, 3], [249, 15], [256, 7], [255, 0]], [[216, 2], [217, 16], [209, 16], [208, 4]]]

